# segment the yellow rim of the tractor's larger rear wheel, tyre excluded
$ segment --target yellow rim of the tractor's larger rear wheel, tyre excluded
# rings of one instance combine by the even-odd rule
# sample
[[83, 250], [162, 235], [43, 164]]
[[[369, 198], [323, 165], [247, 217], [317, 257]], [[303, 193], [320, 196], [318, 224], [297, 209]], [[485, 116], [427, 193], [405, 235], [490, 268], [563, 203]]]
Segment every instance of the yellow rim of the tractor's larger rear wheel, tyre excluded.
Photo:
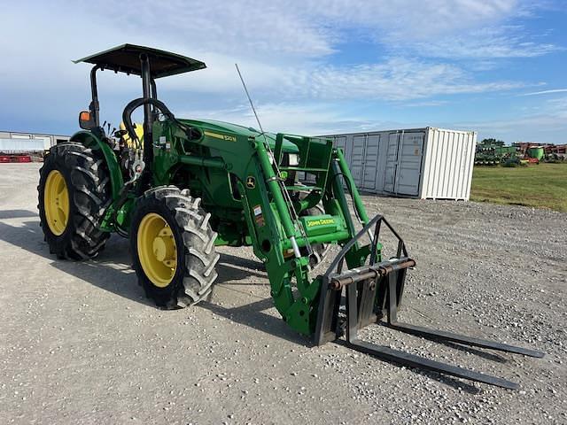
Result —
[[60, 236], [69, 221], [69, 190], [65, 177], [58, 170], [47, 175], [43, 189], [43, 209], [51, 233]]

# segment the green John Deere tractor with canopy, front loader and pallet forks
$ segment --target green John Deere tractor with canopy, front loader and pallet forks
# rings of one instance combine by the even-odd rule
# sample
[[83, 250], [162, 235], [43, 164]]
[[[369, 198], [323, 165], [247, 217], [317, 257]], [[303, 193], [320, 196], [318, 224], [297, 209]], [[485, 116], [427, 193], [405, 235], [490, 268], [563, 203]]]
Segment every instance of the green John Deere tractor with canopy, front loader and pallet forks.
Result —
[[[147, 297], [173, 309], [209, 296], [217, 246], [249, 245], [266, 267], [283, 321], [315, 344], [345, 336], [359, 352], [506, 388], [517, 384], [369, 344], [357, 332], [385, 319], [434, 340], [543, 355], [397, 321], [405, 275], [416, 262], [384, 217], [369, 219], [343, 152], [330, 140], [176, 118], [159, 101], [156, 80], [206, 67], [192, 58], [124, 44], [76, 62], [94, 65], [89, 111], [79, 115], [82, 131], [51, 148], [38, 186], [41, 226], [58, 259], [93, 259], [111, 233], [128, 237]], [[99, 121], [103, 70], [142, 79], [142, 97], [126, 105], [118, 130]], [[143, 124], [132, 122], [137, 108]], [[381, 228], [398, 240], [391, 259], [383, 258]], [[332, 244], [338, 255], [314, 275]]]

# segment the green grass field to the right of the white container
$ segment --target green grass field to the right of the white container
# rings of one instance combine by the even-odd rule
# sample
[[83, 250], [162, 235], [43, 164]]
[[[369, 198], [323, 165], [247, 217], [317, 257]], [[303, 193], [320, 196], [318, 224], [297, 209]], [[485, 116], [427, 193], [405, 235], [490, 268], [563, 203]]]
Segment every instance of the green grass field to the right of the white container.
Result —
[[567, 213], [567, 164], [475, 166], [470, 200]]

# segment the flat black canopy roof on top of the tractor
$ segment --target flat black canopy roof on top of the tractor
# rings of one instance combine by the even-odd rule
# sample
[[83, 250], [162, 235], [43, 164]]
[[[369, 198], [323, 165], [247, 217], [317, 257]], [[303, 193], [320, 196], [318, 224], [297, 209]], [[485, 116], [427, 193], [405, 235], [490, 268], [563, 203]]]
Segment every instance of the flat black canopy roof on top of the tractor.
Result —
[[110, 50], [74, 60], [75, 64], [87, 62], [105, 69], [111, 69], [120, 73], [134, 73], [140, 75], [142, 66], [140, 54], [145, 53], [150, 59], [151, 78], [167, 77], [176, 73], [189, 73], [198, 69], [206, 68], [205, 63], [177, 55], [165, 50], [151, 49], [134, 44], [122, 44]]

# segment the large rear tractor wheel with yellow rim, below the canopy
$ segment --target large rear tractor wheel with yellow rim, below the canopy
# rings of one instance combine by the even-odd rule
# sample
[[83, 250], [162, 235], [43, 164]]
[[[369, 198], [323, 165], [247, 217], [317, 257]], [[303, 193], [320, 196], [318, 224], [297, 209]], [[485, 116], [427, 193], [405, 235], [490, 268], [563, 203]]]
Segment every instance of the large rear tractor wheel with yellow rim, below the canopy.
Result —
[[108, 167], [82, 143], [59, 143], [39, 171], [40, 224], [58, 259], [92, 259], [110, 236], [98, 228], [112, 200]]

